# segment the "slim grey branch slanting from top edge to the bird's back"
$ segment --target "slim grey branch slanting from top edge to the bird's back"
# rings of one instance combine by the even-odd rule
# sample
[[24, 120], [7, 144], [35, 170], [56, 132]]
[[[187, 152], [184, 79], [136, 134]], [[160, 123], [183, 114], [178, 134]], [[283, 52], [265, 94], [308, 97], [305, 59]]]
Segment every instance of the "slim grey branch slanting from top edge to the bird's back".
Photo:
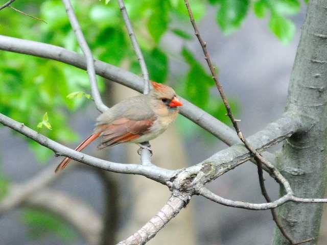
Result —
[[108, 110], [108, 107], [105, 106], [101, 100], [92, 52], [91, 52], [89, 46], [87, 45], [87, 42], [83, 35], [81, 26], [77, 20], [77, 17], [75, 15], [75, 12], [74, 12], [71, 2], [69, 0], [62, 0], [62, 2], [65, 6], [67, 16], [69, 18], [69, 21], [71, 22], [71, 25], [74, 30], [78, 44], [80, 45], [81, 50], [86, 59], [87, 74], [88, 74], [90, 84], [91, 84], [92, 97], [95, 101], [97, 109], [101, 112], [104, 112], [104, 111]]

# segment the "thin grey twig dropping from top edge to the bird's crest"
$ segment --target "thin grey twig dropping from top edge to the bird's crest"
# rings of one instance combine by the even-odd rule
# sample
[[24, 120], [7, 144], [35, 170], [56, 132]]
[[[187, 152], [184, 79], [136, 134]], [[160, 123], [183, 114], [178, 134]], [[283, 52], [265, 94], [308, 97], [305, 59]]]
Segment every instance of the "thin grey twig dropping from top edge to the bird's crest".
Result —
[[123, 18], [124, 18], [124, 22], [128, 31], [128, 35], [132, 41], [139, 65], [141, 66], [141, 70], [142, 70], [142, 74], [143, 74], [143, 80], [144, 80], [144, 91], [143, 94], [147, 94], [150, 91], [150, 83], [149, 83], [149, 72], [148, 72], [148, 68], [147, 65], [145, 63], [141, 48], [138, 45], [131, 21], [128, 17], [128, 13], [124, 4], [124, 0], [118, 0], [118, 4], [119, 7], [121, 9]]

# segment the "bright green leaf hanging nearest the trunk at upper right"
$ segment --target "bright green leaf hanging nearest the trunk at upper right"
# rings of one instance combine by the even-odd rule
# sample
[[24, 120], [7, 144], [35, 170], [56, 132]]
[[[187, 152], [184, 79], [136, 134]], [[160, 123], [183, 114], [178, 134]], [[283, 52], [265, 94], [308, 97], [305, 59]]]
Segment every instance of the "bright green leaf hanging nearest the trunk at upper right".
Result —
[[283, 44], [289, 44], [295, 35], [295, 24], [290, 19], [281, 15], [271, 14], [269, 21], [270, 30]]

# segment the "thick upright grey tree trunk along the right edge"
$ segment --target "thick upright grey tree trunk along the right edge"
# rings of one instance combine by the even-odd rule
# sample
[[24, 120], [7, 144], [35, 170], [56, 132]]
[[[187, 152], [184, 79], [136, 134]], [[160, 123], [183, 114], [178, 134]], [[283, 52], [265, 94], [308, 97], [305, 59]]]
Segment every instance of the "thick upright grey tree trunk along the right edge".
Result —
[[[327, 0], [310, 0], [286, 110], [312, 118], [312, 125], [306, 132], [297, 132], [286, 140], [276, 156], [277, 168], [299, 198], [323, 198], [326, 189], [326, 83]], [[305, 244], [317, 244], [322, 207], [322, 204], [290, 202], [278, 208], [278, 215], [294, 240], [314, 238]], [[290, 243], [275, 228], [272, 244]]]

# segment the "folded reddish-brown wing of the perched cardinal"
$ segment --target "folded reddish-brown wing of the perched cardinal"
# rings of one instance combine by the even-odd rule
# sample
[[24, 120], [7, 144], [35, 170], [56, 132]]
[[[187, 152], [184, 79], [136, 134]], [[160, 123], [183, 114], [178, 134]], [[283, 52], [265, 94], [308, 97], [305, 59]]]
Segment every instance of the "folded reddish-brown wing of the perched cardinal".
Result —
[[156, 118], [148, 118], [145, 120], [132, 120], [126, 117], [119, 117], [110, 124], [98, 126], [96, 132], [101, 133], [101, 143], [98, 149], [127, 142], [149, 132], [150, 127]]

